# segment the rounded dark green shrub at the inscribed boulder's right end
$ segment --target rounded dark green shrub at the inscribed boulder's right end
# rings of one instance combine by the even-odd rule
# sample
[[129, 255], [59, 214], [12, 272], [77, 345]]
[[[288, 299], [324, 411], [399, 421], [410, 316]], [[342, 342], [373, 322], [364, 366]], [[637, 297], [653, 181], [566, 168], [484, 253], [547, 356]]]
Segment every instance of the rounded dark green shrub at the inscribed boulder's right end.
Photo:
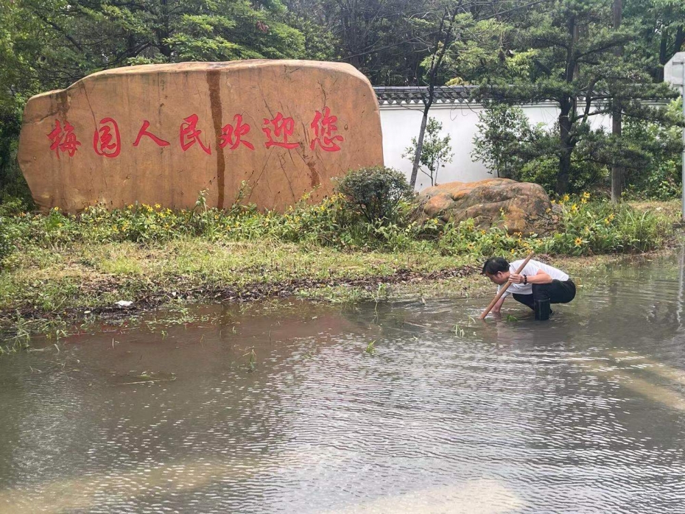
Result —
[[400, 171], [382, 166], [351, 170], [336, 189], [347, 206], [369, 223], [401, 222], [406, 202], [414, 196]]

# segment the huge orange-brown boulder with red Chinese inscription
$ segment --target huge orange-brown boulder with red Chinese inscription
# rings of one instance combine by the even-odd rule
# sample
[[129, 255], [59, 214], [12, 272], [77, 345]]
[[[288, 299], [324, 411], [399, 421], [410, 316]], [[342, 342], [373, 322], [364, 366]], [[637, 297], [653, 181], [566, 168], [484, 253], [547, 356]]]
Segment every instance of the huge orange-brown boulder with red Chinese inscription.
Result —
[[[36, 204], [77, 212], [138, 201], [283, 210], [332, 178], [383, 164], [378, 103], [349, 64], [146, 64], [29, 99], [18, 161]], [[245, 186], [243, 186], [243, 182]]]

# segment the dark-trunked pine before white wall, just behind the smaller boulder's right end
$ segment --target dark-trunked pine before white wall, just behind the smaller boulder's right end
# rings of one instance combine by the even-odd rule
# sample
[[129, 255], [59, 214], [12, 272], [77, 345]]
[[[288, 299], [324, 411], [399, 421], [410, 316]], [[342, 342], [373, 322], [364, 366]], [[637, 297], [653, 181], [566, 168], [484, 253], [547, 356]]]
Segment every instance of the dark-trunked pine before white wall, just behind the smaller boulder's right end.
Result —
[[479, 89], [479, 97], [506, 103], [557, 104], [560, 195], [569, 189], [574, 152], [583, 160], [607, 165], [630, 165], [634, 159], [619, 136], [593, 128], [595, 117], [620, 110], [627, 119], [671, 123], [666, 109], [652, 107], [649, 101], [672, 97], [673, 92], [664, 84], [652, 84], [630, 59], [614, 53], [634, 38], [630, 30], [614, 29], [606, 1], [551, 0], [531, 12], [516, 31], [516, 45], [535, 51], [529, 77], [514, 85], [495, 79]]

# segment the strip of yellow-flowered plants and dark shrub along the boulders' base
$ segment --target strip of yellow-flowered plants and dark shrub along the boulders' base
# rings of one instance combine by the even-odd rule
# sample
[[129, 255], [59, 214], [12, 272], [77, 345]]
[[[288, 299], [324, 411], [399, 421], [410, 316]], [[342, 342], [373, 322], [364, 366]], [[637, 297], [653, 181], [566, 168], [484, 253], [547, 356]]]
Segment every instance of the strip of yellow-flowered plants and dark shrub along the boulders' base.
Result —
[[[589, 201], [589, 193], [584, 193], [558, 201], [560, 226], [555, 234], [523, 237], [502, 228], [477, 228], [473, 220], [458, 225], [441, 225], [435, 219], [419, 221], [401, 175], [377, 169], [367, 179], [373, 188], [363, 185], [366, 179], [361, 174], [351, 173], [340, 181], [336, 195], [316, 205], [306, 203], [305, 198], [282, 214], [237, 205], [229, 210], [208, 208], [203, 195], [192, 210], [136, 204], [111, 211], [94, 206], [79, 215], [64, 215], [56, 208], [43, 214], [25, 212], [21, 204], [5, 204], [0, 210], [1, 262], [4, 269], [14, 269], [36, 248], [59, 252], [75, 244], [128, 242], [145, 246], [187, 238], [296, 243], [340, 252], [410, 249], [474, 256], [520, 254], [531, 249], [566, 255], [645, 252], [667, 241], [675, 221], [665, 212]], [[506, 225], [506, 217], [503, 221]]]

